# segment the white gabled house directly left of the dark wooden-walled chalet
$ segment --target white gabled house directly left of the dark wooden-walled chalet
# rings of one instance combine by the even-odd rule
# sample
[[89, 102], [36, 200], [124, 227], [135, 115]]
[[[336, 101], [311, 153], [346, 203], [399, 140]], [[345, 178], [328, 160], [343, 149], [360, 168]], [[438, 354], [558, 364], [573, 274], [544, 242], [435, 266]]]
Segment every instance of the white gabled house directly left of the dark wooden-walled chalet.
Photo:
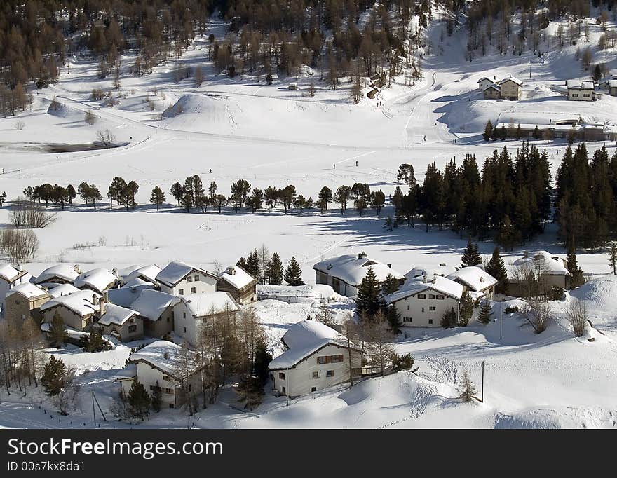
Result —
[[217, 290], [217, 277], [186, 262], [173, 261], [156, 274], [161, 292], [172, 295], [203, 294]]

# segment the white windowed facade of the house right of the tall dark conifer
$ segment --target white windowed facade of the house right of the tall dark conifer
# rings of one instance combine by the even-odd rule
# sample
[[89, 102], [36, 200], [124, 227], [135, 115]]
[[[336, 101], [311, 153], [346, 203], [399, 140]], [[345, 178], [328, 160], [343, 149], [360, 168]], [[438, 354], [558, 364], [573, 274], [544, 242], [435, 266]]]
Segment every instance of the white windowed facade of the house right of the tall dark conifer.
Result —
[[459, 301], [430, 289], [395, 301], [394, 306], [405, 327], [440, 327], [448, 310], [459, 311]]

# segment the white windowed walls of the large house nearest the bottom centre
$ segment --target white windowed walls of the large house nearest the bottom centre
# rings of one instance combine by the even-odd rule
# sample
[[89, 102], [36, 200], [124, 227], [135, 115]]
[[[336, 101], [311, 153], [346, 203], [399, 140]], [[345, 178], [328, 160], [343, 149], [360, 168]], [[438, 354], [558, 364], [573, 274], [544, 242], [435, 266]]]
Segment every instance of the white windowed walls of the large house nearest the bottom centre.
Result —
[[[325, 362], [325, 363], [320, 363]], [[360, 375], [362, 354], [351, 351], [354, 376]], [[283, 395], [298, 397], [349, 380], [349, 353], [344, 346], [328, 343], [289, 369], [271, 369], [273, 388]]]

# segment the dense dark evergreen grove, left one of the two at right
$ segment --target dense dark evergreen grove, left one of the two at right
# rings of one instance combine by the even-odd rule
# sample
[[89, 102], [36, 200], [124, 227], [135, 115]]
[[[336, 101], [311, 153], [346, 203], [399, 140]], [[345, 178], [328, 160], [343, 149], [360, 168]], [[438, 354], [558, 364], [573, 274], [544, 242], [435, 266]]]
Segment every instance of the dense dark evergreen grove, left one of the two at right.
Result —
[[[427, 231], [431, 225], [449, 226], [461, 235], [468, 231], [480, 240], [494, 238], [510, 250], [541, 233], [550, 219], [548, 153], [529, 142], [517, 149], [515, 158], [506, 147], [501, 153], [495, 150], [484, 161], [482, 174], [470, 155], [461, 165], [448, 161], [443, 171], [431, 163], [422, 184], [411, 165], [402, 169], [399, 177], [405, 177], [409, 191], [404, 194], [398, 186], [392, 196], [398, 224], [413, 225], [420, 215]], [[393, 219], [386, 219], [386, 226], [392, 224]]]

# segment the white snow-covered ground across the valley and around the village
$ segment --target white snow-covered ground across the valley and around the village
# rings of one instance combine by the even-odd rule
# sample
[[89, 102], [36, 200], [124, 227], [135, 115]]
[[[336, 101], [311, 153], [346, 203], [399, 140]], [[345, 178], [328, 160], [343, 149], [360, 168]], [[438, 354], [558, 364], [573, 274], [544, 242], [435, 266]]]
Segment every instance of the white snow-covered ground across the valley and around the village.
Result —
[[[440, 23], [433, 24], [433, 39], [441, 28]], [[590, 30], [590, 44], [595, 44], [599, 31], [595, 25]], [[213, 22], [212, 32], [222, 35], [222, 25]], [[514, 151], [517, 142], [482, 141], [481, 133], [489, 119], [576, 113], [617, 123], [617, 97], [602, 95], [596, 102], [574, 103], [564, 100], [560, 93], [558, 86], [567, 78], [586, 77], [574, 60], [574, 47], [551, 51], [542, 59], [525, 53], [521, 57], [493, 55], [469, 63], [463, 60], [466, 42], [461, 36], [447, 39], [443, 53], [426, 58], [423, 79], [415, 86], [405, 86], [400, 78], [392, 88], [384, 88], [379, 99], [365, 97], [358, 105], [348, 100], [349, 84], [335, 92], [327, 90], [319, 81], [318, 71], [308, 71], [312, 76], [300, 78], [297, 91], [287, 88], [294, 78], [276, 78], [273, 85], [266, 86], [263, 78], [232, 81], [215, 74], [205, 61], [207, 34], [196, 39], [179, 60], [189, 67], [204, 68], [201, 87], [196, 88], [191, 79], [175, 83], [170, 62], [150, 76], [123, 74], [121, 90], [114, 92], [118, 102], [113, 106], [90, 100], [90, 91], [111, 88], [111, 79], [97, 79], [93, 60], [69, 58], [60, 82], [34, 94], [32, 109], [0, 119], [0, 191], [6, 191], [10, 202], [26, 186], [49, 182], [76, 187], [87, 181], [106, 196], [111, 178], [121, 176], [140, 185], [139, 205], [126, 212], [117, 206], [109, 210], [109, 203], [101, 201], [97, 210], [92, 210], [78, 198], [75, 205], [58, 210], [55, 224], [36, 231], [41, 247], [25, 268], [36, 275], [57, 262], [81, 264], [82, 268], [121, 268], [151, 263], [164, 266], [179, 259], [211, 269], [215, 262], [235, 264], [240, 256], [247, 256], [262, 244], [270, 252], [278, 252], [285, 262], [295, 256], [309, 285], [314, 283], [312, 266], [317, 261], [361, 251], [391, 263], [402, 273], [414, 266], [430, 268], [442, 262], [458, 265], [466, 237], [449, 231], [427, 233], [422, 224], [385, 232], [383, 219], [391, 213], [389, 205], [381, 217], [375, 217], [373, 211], [358, 217], [352, 210], [341, 216], [336, 209], [323, 216], [315, 211], [302, 216], [296, 211], [283, 214], [278, 209], [257, 214], [233, 214], [229, 210], [223, 214], [210, 210], [187, 214], [175, 207], [168, 190], [172, 183], [197, 174], [205, 187], [217, 182], [222, 193], [229, 193], [230, 184], [236, 180], [246, 179], [262, 189], [294, 184], [298, 193], [313, 199], [322, 186], [334, 190], [342, 184], [362, 182], [372, 190], [382, 189], [387, 197], [397, 186], [396, 171], [401, 163], [412, 163], [421, 181], [433, 161], [442, 168], [453, 157], [462, 159], [473, 153], [481, 164], [504, 144]], [[617, 67], [614, 49], [602, 55], [609, 69]], [[132, 61], [130, 56], [124, 58], [123, 70], [128, 71]], [[525, 82], [522, 100], [482, 100], [477, 80], [487, 74], [521, 78]], [[315, 97], [304, 95], [311, 78], [318, 85]], [[60, 107], [50, 109], [54, 97]], [[171, 109], [163, 114], [168, 107]], [[87, 125], [83, 119], [89, 110], [97, 116], [95, 125]], [[15, 128], [20, 120], [25, 123], [22, 130]], [[114, 133], [121, 146], [46, 152], [50, 144], [91, 143], [97, 131], [105, 129]], [[536, 144], [548, 149], [555, 175], [565, 143]], [[601, 146], [600, 142], [590, 143], [588, 149]], [[615, 144], [606, 146], [612, 155]], [[168, 194], [169, 204], [159, 212], [148, 203], [156, 185]], [[6, 206], [0, 210], [0, 222], [9, 222]], [[486, 256], [494, 247], [492, 243], [479, 246]], [[555, 243], [554, 226], [548, 226], [544, 235], [524, 249], [564, 254]], [[518, 248], [512, 256], [522, 252], [523, 248]], [[511, 259], [505, 258], [506, 262]], [[602, 282], [609, 273], [605, 254], [579, 254], [578, 264], [601, 282], [592, 282], [572, 296], [588, 301], [592, 322], [604, 334], [592, 330], [574, 339], [561, 302], [555, 303], [555, 310], [560, 312], [557, 319], [540, 335], [517, 315], [503, 317], [502, 339], [499, 322], [486, 327], [473, 322], [466, 329], [447, 331], [413, 329], [400, 337], [397, 350], [416, 357], [417, 375], [403, 372], [372, 378], [351, 390], [341, 385], [292, 400], [288, 407], [284, 397], [266, 394], [264, 404], [252, 413], [233, 408], [233, 392], [226, 389], [221, 402], [188, 421], [182, 411], [162, 411], [142, 426], [615, 428], [617, 283], [609, 279]], [[257, 303], [273, 353], [282, 351], [279, 340], [287, 327], [304, 320], [314, 308], [314, 303]], [[353, 310], [353, 304], [339, 302], [332, 308], [344, 313]], [[118, 387], [113, 378], [134, 345], [119, 345], [95, 354], [73, 349], [54, 353], [77, 367], [84, 390], [95, 390], [107, 409]], [[468, 370], [479, 385], [482, 362], [484, 403], [461, 404], [456, 399], [461, 374]], [[40, 405], [40, 396], [21, 397], [13, 392], [7, 397], [1, 390], [0, 426], [93, 426], [90, 395], [82, 395], [81, 411], [58, 418], [49, 406]], [[103, 426], [128, 425], [111, 421]]]

